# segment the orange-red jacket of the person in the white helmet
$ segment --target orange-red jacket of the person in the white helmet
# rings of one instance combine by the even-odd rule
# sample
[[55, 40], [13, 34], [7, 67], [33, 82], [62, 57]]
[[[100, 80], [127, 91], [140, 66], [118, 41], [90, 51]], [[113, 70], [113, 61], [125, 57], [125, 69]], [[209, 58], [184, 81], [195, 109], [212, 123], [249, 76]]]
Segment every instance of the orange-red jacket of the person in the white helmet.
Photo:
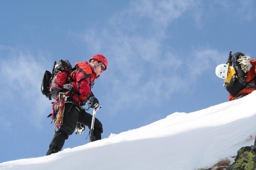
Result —
[[[249, 82], [251, 79], [253, 79], [256, 76], [256, 60], [255, 59], [251, 59], [250, 63], [252, 64], [252, 68], [250, 69], [250, 71], [248, 71], [248, 73], [246, 73], [246, 82]], [[252, 81], [253, 83], [254, 81]], [[238, 95], [243, 94], [243, 93], [252, 93], [255, 90], [254, 88], [244, 88], [240, 91], [240, 93], [238, 93]], [[230, 101], [234, 100], [238, 95], [236, 96], [232, 96], [232, 95], [228, 95], [228, 99]]]

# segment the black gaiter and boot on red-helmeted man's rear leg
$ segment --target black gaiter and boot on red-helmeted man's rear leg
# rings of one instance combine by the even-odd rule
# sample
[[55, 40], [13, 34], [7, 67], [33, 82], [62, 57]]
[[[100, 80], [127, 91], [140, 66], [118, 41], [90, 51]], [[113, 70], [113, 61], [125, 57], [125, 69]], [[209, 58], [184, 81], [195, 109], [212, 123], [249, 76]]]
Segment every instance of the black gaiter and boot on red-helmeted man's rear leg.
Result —
[[53, 140], [50, 143], [49, 150], [47, 151], [46, 155], [59, 152], [67, 138], [68, 136], [64, 132], [57, 131], [53, 136]]

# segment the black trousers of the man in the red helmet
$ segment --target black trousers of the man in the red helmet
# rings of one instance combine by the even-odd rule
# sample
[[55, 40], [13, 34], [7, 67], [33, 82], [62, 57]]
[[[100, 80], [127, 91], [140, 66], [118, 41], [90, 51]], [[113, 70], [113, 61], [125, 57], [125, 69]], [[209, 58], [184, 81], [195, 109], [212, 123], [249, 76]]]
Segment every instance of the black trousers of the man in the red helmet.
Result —
[[[65, 103], [65, 109], [63, 113], [63, 125], [53, 136], [53, 140], [50, 143], [49, 150], [46, 155], [50, 155], [59, 152], [66, 139], [69, 135], [73, 134], [77, 123], [81, 123], [89, 128], [91, 128], [92, 115], [85, 112], [84, 109], [77, 109], [78, 103], [73, 101], [73, 99], [68, 99], [67, 101], [72, 101], [73, 103]], [[101, 133], [103, 132], [102, 123], [95, 118], [94, 130], [92, 141], [100, 140], [102, 138]]]

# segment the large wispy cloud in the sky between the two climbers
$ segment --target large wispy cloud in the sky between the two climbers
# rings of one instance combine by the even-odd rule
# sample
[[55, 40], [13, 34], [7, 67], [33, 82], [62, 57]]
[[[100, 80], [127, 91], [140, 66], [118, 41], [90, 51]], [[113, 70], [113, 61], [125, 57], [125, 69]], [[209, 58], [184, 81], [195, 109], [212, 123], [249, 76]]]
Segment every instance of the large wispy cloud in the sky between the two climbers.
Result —
[[104, 29], [93, 28], [85, 34], [88, 49], [92, 53], [104, 51], [108, 58], [108, 78], [106, 74], [102, 78], [111, 84], [109, 101], [118, 99], [113, 112], [186, 91], [208, 71], [210, 62], [220, 61], [221, 54], [214, 49], [197, 49], [183, 56], [165, 43], [167, 27], [186, 12], [193, 13], [197, 5], [190, 0], [133, 1]]

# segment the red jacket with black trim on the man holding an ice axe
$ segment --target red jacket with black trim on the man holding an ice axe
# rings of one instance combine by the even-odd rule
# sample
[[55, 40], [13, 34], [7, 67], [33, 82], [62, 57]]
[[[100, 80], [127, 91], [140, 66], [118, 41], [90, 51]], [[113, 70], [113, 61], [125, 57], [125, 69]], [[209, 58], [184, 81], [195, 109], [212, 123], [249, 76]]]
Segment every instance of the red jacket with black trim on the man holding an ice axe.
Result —
[[75, 67], [77, 68], [70, 75], [74, 80], [72, 82], [74, 91], [80, 100], [75, 95], [73, 98], [80, 104], [80, 102], [87, 101], [87, 95], [92, 94], [91, 86], [94, 84], [94, 79], [97, 79], [100, 75], [96, 77], [94, 67], [91, 67], [87, 61], [75, 63]]

